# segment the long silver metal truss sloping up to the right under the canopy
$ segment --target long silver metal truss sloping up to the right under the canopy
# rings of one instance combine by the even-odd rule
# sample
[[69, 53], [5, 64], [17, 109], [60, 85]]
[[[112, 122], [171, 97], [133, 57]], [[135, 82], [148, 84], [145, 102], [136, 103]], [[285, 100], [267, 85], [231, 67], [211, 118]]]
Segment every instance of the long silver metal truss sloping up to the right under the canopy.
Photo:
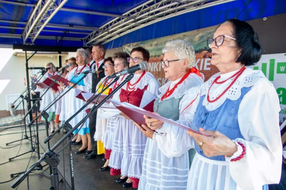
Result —
[[108, 30], [108, 32], [94, 31], [86, 36], [83, 40], [84, 46], [97, 43], [105, 44], [120, 36], [173, 16], [230, 1], [235, 0], [150, 0], [122, 14], [135, 17], [135, 19], [127, 20], [117, 17], [100, 27], [100, 29]]

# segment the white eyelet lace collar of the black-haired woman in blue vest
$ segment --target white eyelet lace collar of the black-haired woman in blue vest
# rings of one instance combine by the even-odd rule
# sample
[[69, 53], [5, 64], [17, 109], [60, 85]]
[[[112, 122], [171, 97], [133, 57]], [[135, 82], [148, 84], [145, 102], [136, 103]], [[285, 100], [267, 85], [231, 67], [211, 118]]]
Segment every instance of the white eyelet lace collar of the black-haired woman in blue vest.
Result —
[[[218, 75], [220, 75], [220, 79], [218, 80], [218, 82], [226, 80], [237, 71], [232, 71], [226, 74], [216, 73], [215, 75], [211, 76], [211, 78], [208, 81], [204, 82], [204, 84], [202, 84], [201, 87], [200, 96], [203, 95], [206, 96], [204, 97], [202, 105], [206, 106], [208, 104], [213, 104], [212, 107], [219, 107], [223, 102], [225, 102], [226, 99], [237, 100], [241, 95], [241, 88], [251, 87], [259, 81], [260, 77], [265, 78], [265, 75], [263, 74], [262, 71], [255, 71], [250, 68], [246, 68], [245, 71], [238, 77], [236, 82], [234, 82], [234, 84], [229, 88], [229, 90], [224, 95], [222, 95], [220, 99], [218, 99], [215, 102], [209, 103], [207, 101], [207, 93], [209, 91], [209, 88], [213, 80], [215, 80], [215, 78]], [[229, 79], [228, 81], [222, 84], [213, 84], [209, 92], [210, 100], [216, 99], [231, 84], [233, 80], [234, 78]]]

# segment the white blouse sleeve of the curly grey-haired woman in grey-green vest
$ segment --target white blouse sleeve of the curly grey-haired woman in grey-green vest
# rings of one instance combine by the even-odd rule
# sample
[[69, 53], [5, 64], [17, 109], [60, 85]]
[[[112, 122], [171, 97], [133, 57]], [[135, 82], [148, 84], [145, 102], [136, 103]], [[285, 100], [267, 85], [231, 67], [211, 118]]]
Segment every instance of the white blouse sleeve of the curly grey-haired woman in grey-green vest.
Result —
[[[191, 88], [181, 99], [179, 103], [180, 117], [178, 123], [185, 126], [191, 126], [191, 122], [196, 112], [200, 86]], [[158, 148], [168, 158], [182, 156], [190, 148], [194, 147], [193, 138], [189, 136], [186, 130], [164, 123], [155, 136]]]

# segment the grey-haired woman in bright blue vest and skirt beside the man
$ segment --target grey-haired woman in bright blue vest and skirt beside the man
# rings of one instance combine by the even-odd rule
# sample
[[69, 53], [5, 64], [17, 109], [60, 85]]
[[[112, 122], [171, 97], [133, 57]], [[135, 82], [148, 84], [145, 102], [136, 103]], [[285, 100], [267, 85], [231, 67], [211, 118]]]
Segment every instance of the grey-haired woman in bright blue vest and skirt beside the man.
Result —
[[[71, 70], [67, 75], [66, 78], [70, 81], [70, 86], [73, 86], [76, 82], [78, 82], [83, 76], [84, 74], [78, 74], [78, 73], [82, 73], [84, 71], [89, 71], [90, 68], [87, 66], [88, 63], [88, 53], [86, 52], [86, 50], [84, 50], [83, 48], [79, 48], [77, 49], [76, 52], [76, 63], [78, 65], [78, 67], [75, 67], [73, 70]], [[91, 83], [92, 83], [92, 74], [88, 73], [86, 75], [86, 77], [81, 80], [74, 88], [76, 88], [79, 91], [84, 91], [84, 92], [91, 92]], [[64, 87], [63, 83], [60, 83], [61, 86]], [[71, 89], [69, 91], [68, 94], [66, 94], [66, 96], [68, 96], [70, 102], [68, 102], [68, 104], [66, 104], [66, 106], [68, 106], [68, 108], [66, 109], [66, 113], [65, 113], [65, 121], [70, 118], [73, 114], [75, 114], [75, 112], [77, 112], [84, 104], [85, 102], [79, 98], [75, 97], [76, 95], [76, 90], [75, 89]], [[86, 111], [82, 110], [81, 112], [79, 112], [79, 114], [77, 114], [69, 123], [71, 126], [75, 126], [77, 125], [77, 123], [79, 123], [80, 120], [82, 120], [84, 117], [86, 116]], [[73, 133], [74, 134], [79, 134], [81, 136], [82, 139], [82, 147], [79, 148], [79, 150], [76, 152], [76, 154], [80, 154], [85, 152], [87, 149], [91, 150], [91, 141], [90, 141], [90, 135], [89, 133], [89, 128], [88, 128], [88, 119], [86, 120], [86, 122], [84, 123], [84, 125], [82, 126], [82, 128], [79, 130], [79, 128], [77, 128]], [[75, 137], [76, 138], [76, 137]], [[74, 140], [75, 140], [74, 138]]]

